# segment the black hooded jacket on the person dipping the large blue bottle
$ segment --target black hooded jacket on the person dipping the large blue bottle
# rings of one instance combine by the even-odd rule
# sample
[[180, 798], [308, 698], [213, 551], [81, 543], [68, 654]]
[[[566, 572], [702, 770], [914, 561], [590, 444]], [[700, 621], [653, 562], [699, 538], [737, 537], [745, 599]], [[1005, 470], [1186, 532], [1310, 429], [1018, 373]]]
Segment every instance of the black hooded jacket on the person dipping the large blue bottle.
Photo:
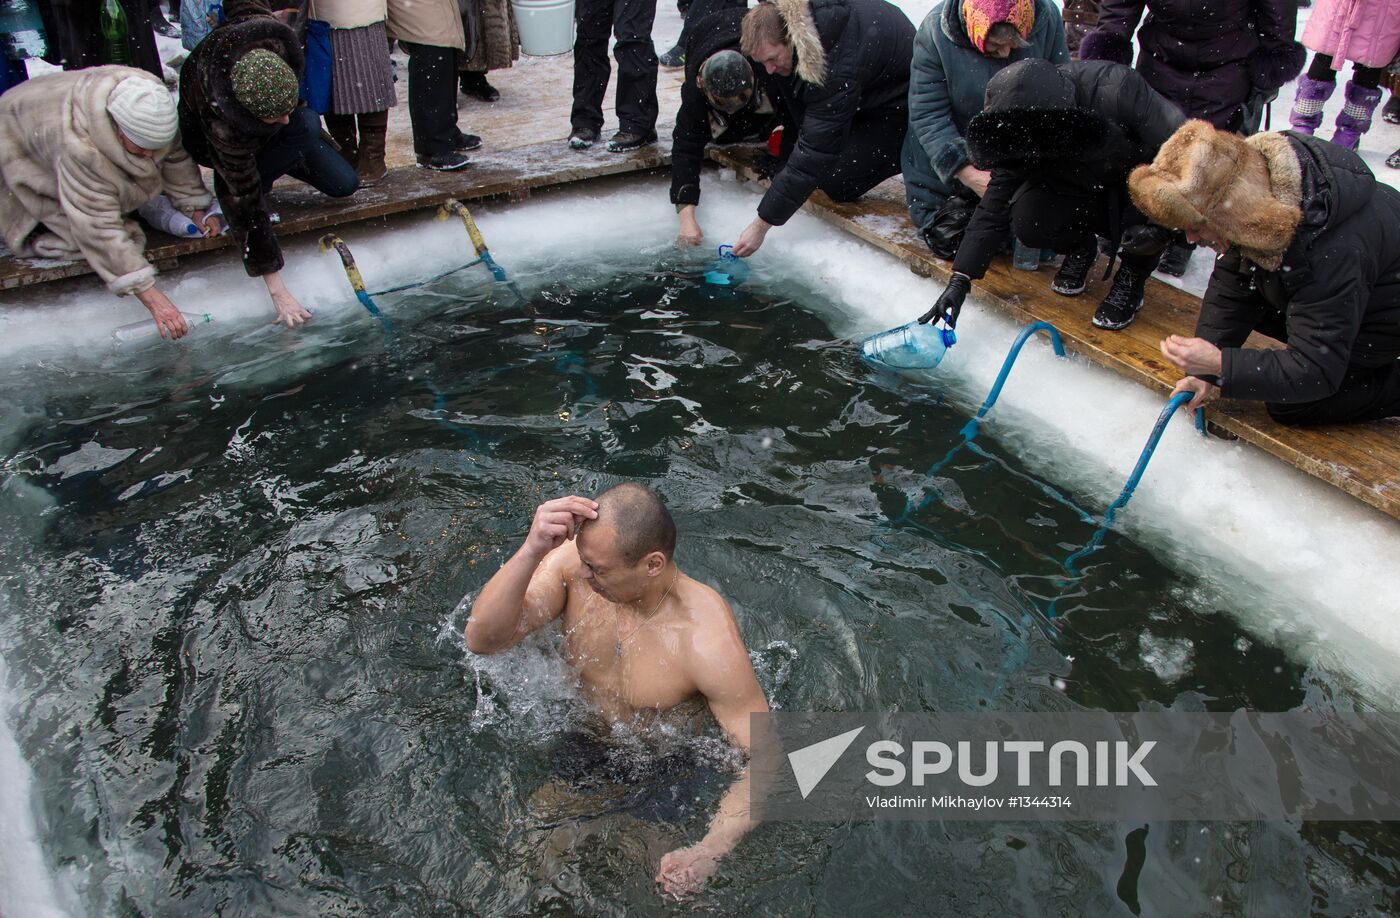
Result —
[[1025, 185], [1067, 197], [1106, 197], [1117, 242], [1123, 217], [1137, 214], [1128, 172], [1151, 162], [1184, 120], [1123, 64], [1033, 59], [1007, 67], [987, 83], [987, 106], [967, 125], [967, 154], [991, 172], [991, 182], [953, 270], [973, 278], [987, 273], [1007, 243], [1011, 206]]

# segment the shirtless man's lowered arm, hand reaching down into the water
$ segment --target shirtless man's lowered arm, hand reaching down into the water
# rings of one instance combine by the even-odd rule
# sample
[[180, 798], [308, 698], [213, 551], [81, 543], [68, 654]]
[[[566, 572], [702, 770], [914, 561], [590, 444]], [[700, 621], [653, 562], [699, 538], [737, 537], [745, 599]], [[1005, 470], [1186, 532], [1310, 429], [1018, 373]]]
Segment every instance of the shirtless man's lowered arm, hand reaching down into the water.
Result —
[[[728, 620], [729, 627], [722, 628], [722, 634], [707, 633], [696, 640], [692, 659], [699, 661], [696, 687], [708, 701], [710, 712], [729, 742], [748, 757], [749, 715], [766, 712], [769, 700], [753, 675], [734, 616], [729, 614]], [[703, 889], [714, 876], [720, 858], [757, 824], [749, 813], [749, 764], [745, 761], [739, 777], [720, 798], [720, 809], [710, 820], [704, 838], [661, 858], [657, 882], [665, 894], [679, 898]]]

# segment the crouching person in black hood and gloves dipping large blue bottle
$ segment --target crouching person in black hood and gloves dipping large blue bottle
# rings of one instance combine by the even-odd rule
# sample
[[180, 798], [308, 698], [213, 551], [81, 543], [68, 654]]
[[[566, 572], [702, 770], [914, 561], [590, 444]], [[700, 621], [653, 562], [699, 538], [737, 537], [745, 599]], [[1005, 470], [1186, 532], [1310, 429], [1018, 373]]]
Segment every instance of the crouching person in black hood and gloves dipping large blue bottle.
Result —
[[[958, 318], [972, 281], [1015, 236], [1065, 255], [1050, 290], [1084, 291], [1098, 236], [1121, 245], [1121, 263], [1093, 313], [1102, 329], [1126, 327], [1170, 235], [1133, 207], [1128, 172], [1151, 162], [1186, 118], [1135, 71], [1100, 60], [1030, 59], [987, 83], [987, 105], [967, 126], [967, 154], [991, 172], [953, 259], [953, 277], [920, 318]], [[1112, 259], [1110, 259], [1112, 262]]]

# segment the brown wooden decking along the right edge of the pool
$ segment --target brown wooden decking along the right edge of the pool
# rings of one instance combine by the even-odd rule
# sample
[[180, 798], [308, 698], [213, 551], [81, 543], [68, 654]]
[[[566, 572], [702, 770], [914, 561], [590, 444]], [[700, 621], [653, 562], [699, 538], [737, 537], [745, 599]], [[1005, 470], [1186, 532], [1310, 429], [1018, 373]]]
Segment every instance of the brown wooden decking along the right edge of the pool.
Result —
[[[757, 148], [711, 147], [715, 162], [735, 169], [739, 178], [760, 181], [753, 162]], [[952, 264], [937, 259], [914, 235], [904, 204], [904, 186], [890, 179], [860, 202], [839, 204], [820, 192], [806, 203], [806, 210], [889, 252], [916, 274], [948, 280]], [[1078, 297], [1060, 297], [1050, 291], [1053, 266], [1037, 271], [1018, 271], [1011, 259], [1001, 256], [974, 281], [980, 294], [1016, 322], [1050, 322], [1060, 330], [1067, 348], [1107, 367], [1163, 396], [1182, 378], [1168, 364], [1158, 341], [1168, 334], [1191, 334], [1200, 315], [1200, 298], [1152, 278], [1148, 281], [1142, 312], [1121, 332], [1106, 332], [1091, 322], [1093, 308], [1107, 292], [1102, 280], [1107, 259], [1102, 257], [1092, 283]], [[1278, 341], [1250, 336], [1250, 347], [1281, 347]], [[1259, 402], [1218, 402], [1207, 410], [1212, 432], [1238, 437], [1284, 462], [1331, 484], [1376, 509], [1400, 519], [1400, 423], [1295, 428], [1275, 424]]]

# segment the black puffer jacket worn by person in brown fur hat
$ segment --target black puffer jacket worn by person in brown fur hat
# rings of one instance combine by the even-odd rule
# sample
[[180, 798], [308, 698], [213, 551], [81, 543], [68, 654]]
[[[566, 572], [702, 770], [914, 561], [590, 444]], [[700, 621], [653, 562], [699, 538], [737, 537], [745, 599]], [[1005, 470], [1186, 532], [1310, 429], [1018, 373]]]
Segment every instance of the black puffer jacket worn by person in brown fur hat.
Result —
[[[1196, 325], [1222, 351], [1221, 395], [1232, 399], [1316, 402], [1348, 367], [1400, 358], [1400, 192], [1350, 150], [1284, 136], [1302, 171], [1303, 220], [1278, 270], [1239, 249], [1218, 259]], [[1256, 329], [1288, 347], [1240, 347]]]

